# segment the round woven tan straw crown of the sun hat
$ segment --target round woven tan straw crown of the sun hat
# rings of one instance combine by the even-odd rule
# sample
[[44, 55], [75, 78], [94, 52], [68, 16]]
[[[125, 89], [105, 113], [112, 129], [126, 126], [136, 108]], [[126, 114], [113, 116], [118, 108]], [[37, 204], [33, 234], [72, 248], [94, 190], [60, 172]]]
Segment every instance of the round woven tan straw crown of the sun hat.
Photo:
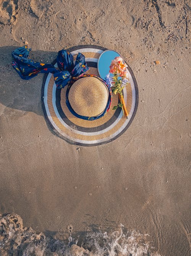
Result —
[[108, 89], [98, 78], [80, 78], [71, 86], [68, 100], [78, 115], [99, 116], [107, 105]]

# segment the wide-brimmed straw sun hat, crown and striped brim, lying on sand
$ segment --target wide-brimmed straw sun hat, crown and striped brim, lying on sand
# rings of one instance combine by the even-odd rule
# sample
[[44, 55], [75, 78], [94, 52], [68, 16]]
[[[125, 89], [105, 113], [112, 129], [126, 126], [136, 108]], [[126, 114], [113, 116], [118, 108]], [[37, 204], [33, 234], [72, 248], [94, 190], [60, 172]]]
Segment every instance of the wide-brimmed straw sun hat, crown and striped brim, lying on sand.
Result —
[[[82, 53], [89, 70], [62, 89], [57, 88], [52, 73], [45, 75], [42, 104], [47, 121], [57, 135], [72, 144], [94, 146], [116, 139], [128, 128], [138, 106], [138, 88], [131, 68], [128, 66], [129, 83], [123, 89], [129, 113], [126, 118], [121, 108], [113, 110], [113, 106], [118, 104], [118, 95], [112, 95], [111, 89], [98, 73], [97, 61], [107, 49], [80, 45], [66, 50], [74, 60], [78, 53]], [[56, 60], [53, 64], [57, 67]]]

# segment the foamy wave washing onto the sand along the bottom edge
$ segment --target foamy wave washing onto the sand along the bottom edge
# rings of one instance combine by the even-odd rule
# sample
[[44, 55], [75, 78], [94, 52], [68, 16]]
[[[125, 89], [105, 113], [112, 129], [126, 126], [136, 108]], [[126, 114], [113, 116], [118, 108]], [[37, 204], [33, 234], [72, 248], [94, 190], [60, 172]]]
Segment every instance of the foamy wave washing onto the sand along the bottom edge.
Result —
[[15, 214], [0, 215], [0, 255], [22, 256], [160, 256], [153, 251], [148, 235], [120, 225], [117, 231], [87, 232], [68, 241], [45, 236], [32, 228], [24, 228], [22, 218]]

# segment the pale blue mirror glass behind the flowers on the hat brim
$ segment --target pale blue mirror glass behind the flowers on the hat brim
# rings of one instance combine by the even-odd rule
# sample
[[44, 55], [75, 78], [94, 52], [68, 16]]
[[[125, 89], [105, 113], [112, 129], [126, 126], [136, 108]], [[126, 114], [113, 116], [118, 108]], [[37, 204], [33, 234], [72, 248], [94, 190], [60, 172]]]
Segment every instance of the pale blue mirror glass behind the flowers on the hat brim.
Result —
[[106, 50], [100, 55], [97, 68], [102, 79], [105, 80], [106, 75], [109, 73], [109, 66], [111, 65], [112, 60], [119, 56], [121, 55], [117, 53], [117, 51], [112, 50]]

